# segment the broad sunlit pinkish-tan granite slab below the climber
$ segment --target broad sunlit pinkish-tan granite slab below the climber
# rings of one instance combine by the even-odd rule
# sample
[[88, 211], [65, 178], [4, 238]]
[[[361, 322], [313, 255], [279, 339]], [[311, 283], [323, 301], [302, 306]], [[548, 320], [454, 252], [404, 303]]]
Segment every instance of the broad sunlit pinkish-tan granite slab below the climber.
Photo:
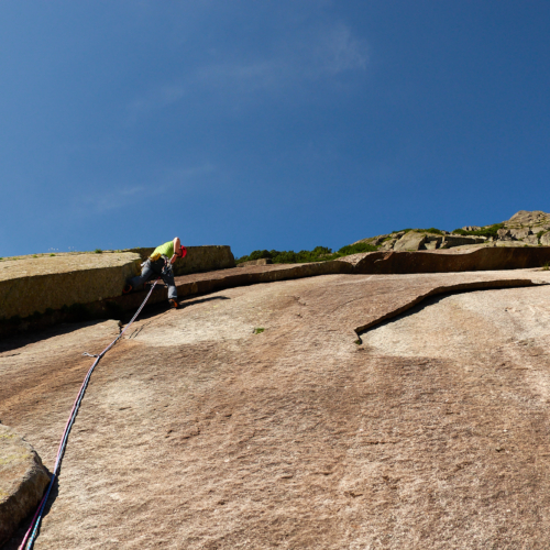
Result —
[[[94, 374], [35, 548], [544, 548], [550, 286], [375, 328], [532, 282], [549, 272], [324, 275], [141, 318]], [[46, 465], [81, 352], [118, 330], [3, 344], [0, 418]]]

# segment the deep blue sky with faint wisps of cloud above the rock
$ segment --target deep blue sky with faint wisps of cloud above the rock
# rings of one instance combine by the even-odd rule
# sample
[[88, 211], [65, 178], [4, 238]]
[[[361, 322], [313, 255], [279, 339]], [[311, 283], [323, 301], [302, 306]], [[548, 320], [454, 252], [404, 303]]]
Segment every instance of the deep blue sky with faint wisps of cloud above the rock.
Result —
[[0, 256], [550, 211], [550, 2], [0, 6]]

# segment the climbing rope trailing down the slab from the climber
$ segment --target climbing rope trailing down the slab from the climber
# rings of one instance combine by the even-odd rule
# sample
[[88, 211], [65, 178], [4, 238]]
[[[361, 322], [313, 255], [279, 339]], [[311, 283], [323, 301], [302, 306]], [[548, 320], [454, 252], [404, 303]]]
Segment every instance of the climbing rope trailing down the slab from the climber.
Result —
[[121, 333], [101, 352], [99, 355], [95, 355], [91, 353], [82, 353], [82, 355], [89, 356], [89, 358], [96, 358], [96, 361], [94, 361], [94, 364], [90, 366], [90, 370], [88, 371], [88, 374], [84, 378], [82, 385], [80, 386], [80, 391], [78, 392], [78, 395], [76, 397], [75, 404], [73, 405], [73, 409], [70, 410], [70, 415], [68, 417], [67, 424], [65, 426], [65, 430], [63, 432], [62, 441], [59, 443], [59, 449], [57, 450], [57, 458], [55, 461], [55, 468], [52, 473], [52, 479], [50, 480], [50, 485], [47, 486], [47, 491], [44, 494], [44, 497], [42, 498], [36, 513], [34, 514], [33, 520], [31, 521], [31, 526], [29, 527], [29, 530], [25, 534], [25, 537], [23, 541], [21, 542], [21, 546], [19, 547], [19, 550], [30, 550], [33, 547], [33, 543], [36, 539], [36, 534], [38, 532], [38, 527], [42, 521], [42, 515], [44, 513], [44, 508], [46, 507], [47, 499], [50, 497], [50, 492], [52, 491], [52, 487], [54, 486], [55, 480], [58, 476], [61, 465], [62, 465], [62, 460], [63, 455], [65, 453], [65, 449], [67, 447], [67, 440], [68, 436], [70, 433], [70, 429], [73, 428], [73, 424], [75, 422], [76, 415], [78, 414], [78, 409], [80, 407], [80, 403], [84, 398], [84, 394], [86, 393], [86, 388], [88, 387], [88, 383], [90, 382], [91, 373], [98, 365], [98, 363], [101, 361], [101, 358], [122, 338], [124, 332], [130, 328], [132, 322], [135, 321], [138, 316], [141, 314], [141, 310], [145, 307], [145, 304], [147, 302], [151, 294], [153, 293], [153, 289], [155, 288], [155, 285], [158, 283], [161, 277], [158, 277], [152, 285], [151, 285], [151, 290], [148, 292], [147, 296], [145, 296], [145, 299], [143, 300], [142, 305], [135, 312], [135, 315], [132, 317], [130, 322], [125, 326], [124, 330], [121, 331]]

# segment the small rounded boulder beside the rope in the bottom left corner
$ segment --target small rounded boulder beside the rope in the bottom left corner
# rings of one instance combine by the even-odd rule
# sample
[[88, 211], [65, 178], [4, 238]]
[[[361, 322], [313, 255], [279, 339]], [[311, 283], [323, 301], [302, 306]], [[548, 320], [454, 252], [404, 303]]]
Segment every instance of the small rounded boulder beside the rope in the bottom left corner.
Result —
[[0, 425], [0, 546], [38, 505], [50, 483], [34, 449]]

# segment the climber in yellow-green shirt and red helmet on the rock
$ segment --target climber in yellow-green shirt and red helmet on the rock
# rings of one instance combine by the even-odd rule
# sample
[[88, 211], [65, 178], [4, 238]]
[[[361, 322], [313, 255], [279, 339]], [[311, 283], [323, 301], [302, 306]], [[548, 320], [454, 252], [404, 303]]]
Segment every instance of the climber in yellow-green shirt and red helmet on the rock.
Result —
[[154, 278], [161, 276], [168, 287], [168, 302], [173, 308], [178, 308], [177, 301], [177, 288], [174, 282], [174, 272], [172, 271], [172, 264], [178, 257], [185, 257], [187, 250], [182, 246], [179, 238], [176, 237], [174, 241], [165, 242], [157, 246], [153, 254], [143, 263], [141, 275], [132, 277], [127, 280], [123, 294], [132, 292], [134, 288], [140, 287], [147, 280], [153, 280]]

